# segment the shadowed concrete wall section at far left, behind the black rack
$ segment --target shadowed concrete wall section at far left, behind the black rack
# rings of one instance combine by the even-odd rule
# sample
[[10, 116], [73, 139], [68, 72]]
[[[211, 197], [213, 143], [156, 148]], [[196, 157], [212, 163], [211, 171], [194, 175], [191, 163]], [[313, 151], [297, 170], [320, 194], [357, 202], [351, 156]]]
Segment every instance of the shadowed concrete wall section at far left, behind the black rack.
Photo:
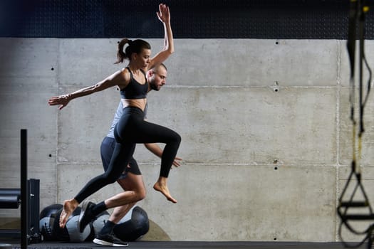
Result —
[[[0, 182], [20, 188], [20, 129], [28, 129], [28, 178], [41, 179], [41, 206], [56, 202], [57, 39], [0, 39]], [[19, 211], [1, 210], [0, 215]]]

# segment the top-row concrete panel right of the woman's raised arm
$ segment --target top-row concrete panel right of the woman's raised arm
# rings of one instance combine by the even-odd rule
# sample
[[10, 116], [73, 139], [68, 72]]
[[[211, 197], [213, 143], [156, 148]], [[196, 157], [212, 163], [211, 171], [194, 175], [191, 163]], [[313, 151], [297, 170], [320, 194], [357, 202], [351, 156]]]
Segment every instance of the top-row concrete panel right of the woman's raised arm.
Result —
[[180, 39], [167, 64], [177, 85], [334, 86], [339, 51], [338, 41]]

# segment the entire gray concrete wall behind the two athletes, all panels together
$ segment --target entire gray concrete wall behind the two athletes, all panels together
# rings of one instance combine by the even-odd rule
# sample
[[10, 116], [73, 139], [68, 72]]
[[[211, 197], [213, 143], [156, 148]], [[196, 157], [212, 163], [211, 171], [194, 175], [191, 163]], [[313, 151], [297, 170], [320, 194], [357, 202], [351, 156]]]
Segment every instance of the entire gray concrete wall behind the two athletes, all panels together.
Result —
[[[47, 100], [123, 67], [113, 65], [117, 41], [0, 39], [0, 187], [19, 186], [22, 128], [28, 129], [28, 176], [41, 179], [41, 208], [72, 198], [101, 174], [100, 142], [118, 91], [73, 100], [61, 111]], [[154, 53], [162, 46], [160, 39], [148, 41]], [[366, 44], [370, 55], [374, 43]], [[151, 220], [145, 238], [338, 240], [337, 198], [352, 159], [346, 42], [177, 39], [175, 50], [166, 62], [167, 85], [149, 95], [147, 117], [182, 136], [184, 162], [169, 184], [178, 203], [152, 190], [160, 159], [138, 145], [147, 186], [139, 206]], [[362, 160], [370, 193], [372, 112], [370, 98]], [[119, 191], [106, 186], [92, 200]], [[360, 239], [348, 232], [345, 238]]]

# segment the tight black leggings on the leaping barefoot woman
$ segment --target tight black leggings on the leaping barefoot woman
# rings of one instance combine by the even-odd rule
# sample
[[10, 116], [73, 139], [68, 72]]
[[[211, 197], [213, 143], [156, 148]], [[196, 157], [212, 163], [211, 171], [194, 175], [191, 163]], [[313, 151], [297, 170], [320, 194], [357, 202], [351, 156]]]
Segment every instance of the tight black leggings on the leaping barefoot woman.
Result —
[[78, 203], [104, 186], [117, 181], [133, 157], [136, 144], [156, 142], [166, 144], [161, 157], [160, 176], [169, 176], [172, 162], [180, 147], [181, 138], [177, 132], [145, 121], [144, 113], [137, 107], [125, 107], [123, 115], [115, 126], [114, 135], [115, 148], [108, 170], [85, 184], [75, 197]]

